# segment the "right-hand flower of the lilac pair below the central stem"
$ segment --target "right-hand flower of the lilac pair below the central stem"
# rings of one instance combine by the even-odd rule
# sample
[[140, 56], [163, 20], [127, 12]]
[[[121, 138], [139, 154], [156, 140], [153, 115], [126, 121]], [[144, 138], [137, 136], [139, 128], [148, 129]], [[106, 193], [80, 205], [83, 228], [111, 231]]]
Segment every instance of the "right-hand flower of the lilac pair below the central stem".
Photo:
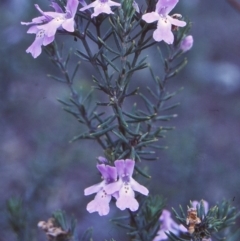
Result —
[[105, 188], [107, 194], [118, 192], [116, 205], [121, 210], [129, 208], [131, 211], [136, 211], [138, 209], [139, 204], [135, 199], [134, 191], [148, 195], [148, 189], [132, 178], [134, 165], [135, 162], [131, 159], [116, 160], [115, 166], [119, 180]]

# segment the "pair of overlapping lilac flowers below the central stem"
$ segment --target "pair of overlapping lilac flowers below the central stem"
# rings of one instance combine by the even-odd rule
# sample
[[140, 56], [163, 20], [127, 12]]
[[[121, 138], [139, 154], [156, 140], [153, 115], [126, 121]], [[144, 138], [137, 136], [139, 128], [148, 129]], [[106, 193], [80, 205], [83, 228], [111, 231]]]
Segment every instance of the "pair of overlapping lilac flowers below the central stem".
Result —
[[116, 198], [116, 206], [124, 210], [136, 211], [139, 207], [134, 191], [148, 195], [148, 189], [132, 178], [135, 161], [131, 159], [116, 160], [115, 167], [98, 164], [103, 181], [84, 190], [85, 195], [97, 193], [94, 200], [88, 203], [87, 211], [98, 212], [100, 216], [109, 213], [109, 202]]

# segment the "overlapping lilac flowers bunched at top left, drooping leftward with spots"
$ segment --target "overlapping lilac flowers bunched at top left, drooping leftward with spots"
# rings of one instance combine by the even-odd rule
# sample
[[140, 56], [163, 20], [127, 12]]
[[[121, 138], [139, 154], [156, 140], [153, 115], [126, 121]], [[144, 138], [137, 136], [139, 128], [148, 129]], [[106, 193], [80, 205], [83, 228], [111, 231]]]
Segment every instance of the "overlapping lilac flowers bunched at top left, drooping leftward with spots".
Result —
[[33, 18], [32, 22], [21, 22], [23, 25], [32, 25], [27, 33], [36, 34], [34, 42], [26, 50], [34, 58], [41, 54], [42, 45], [46, 46], [54, 41], [57, 29], [74, 32], [74, 17], [78, 7], [78, 0], [68, 0], [65, 12], [55, 2], [52, 2], [51, 6], [55, 12], [44, 12], [35, 4], [36, 9], [42, 16]]

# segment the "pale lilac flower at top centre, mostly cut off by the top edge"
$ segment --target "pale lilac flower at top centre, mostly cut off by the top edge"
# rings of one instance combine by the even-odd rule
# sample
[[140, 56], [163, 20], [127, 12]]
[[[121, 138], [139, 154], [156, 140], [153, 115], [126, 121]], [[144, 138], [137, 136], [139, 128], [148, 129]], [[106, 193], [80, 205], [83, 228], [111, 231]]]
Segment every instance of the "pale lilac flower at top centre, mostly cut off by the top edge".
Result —
[[100, 13], [112, 14], [111, 6], [121, 6], [120, 3], [113, 2], [111, 0], [96, 0], [89, 5], [80, 8], [80, 11], [85, 11], [89, 8], [94, 8], [91, 18], [97, 17]]

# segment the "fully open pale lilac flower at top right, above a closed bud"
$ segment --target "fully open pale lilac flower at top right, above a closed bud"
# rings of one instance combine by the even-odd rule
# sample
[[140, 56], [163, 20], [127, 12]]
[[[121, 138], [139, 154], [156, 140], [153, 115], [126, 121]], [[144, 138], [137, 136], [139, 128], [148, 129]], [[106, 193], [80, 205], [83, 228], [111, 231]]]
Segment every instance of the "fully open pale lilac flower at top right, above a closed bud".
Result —
[[158, 0], [155, 12], [146, 13], [142, 19], [147, 23], [158, 21], [157, 29], [153, 32], [155, 41], [165, 41], [167, 44], [172, 44], [174, 35], [172, 33], [172, 25], [184, 27], [186, 23], [176, 18], [169, 16], [169, 12], [176, 6], [178, 0]]

